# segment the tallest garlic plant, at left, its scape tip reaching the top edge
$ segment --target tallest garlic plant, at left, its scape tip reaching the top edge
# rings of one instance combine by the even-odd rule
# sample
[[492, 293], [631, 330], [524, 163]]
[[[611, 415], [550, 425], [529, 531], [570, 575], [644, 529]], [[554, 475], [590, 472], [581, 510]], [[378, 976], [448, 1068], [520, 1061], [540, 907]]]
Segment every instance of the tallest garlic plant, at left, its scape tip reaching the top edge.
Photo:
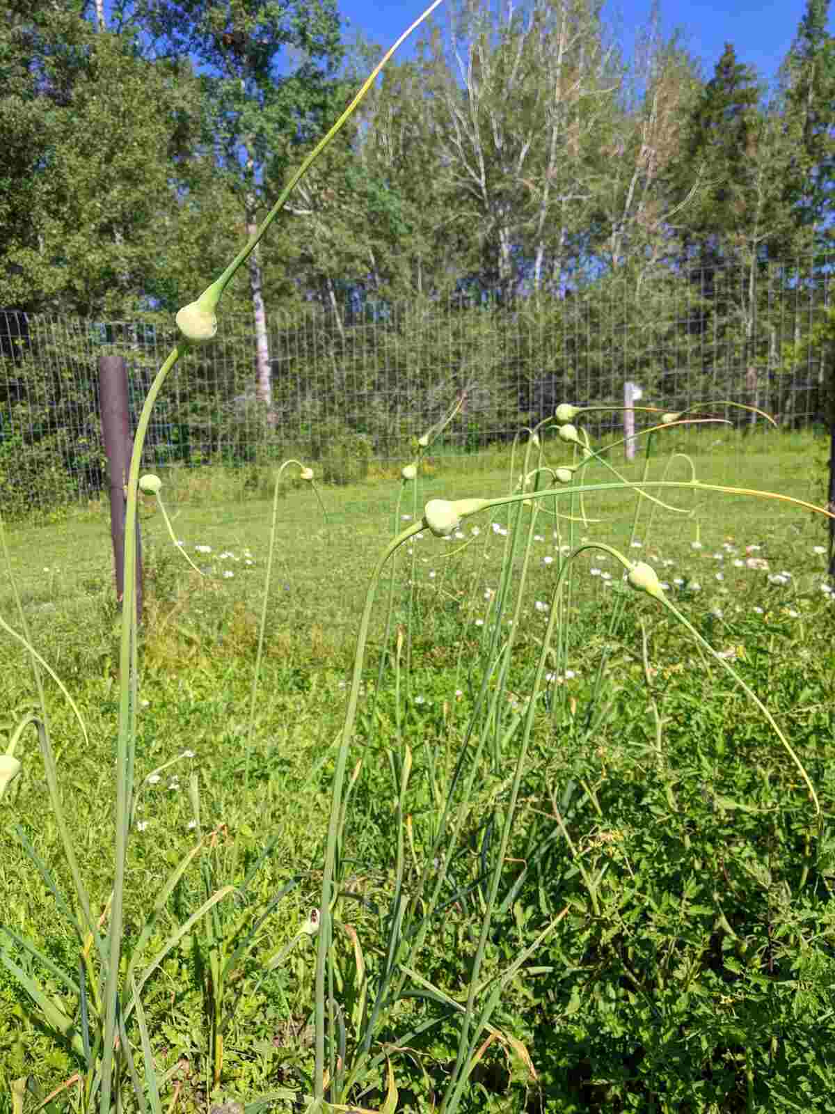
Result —
[[[412, 27], [401, 36], [401, 38], [395, 42], [395, 45], [383, 56], [380, 63], [374, 68], [372, 74], [369, 76], [357, 95], [353, 98], [351, 104], [347, 106], [342, 116], [336, 120], [333, 127], [330, 129], [327, 135], [322, 139], [322, 141], [314, 148], [314, 150], [304, 159], [302, 165], [291, 177], [289, 182], [285, 186], [281, 196], [276, 201], [275, 205], [267, 214], [266, 218], [262, 223], [258, 231], [253, 235], [244, 248], [238, 253], [238, 255], [232, 261], [229, 266], [224, 271], [224, 273], [212, 283], [204, 293], [189, 305], [184, 306], [177, 313], [177, 325], [181, 333], [181, 342], [175, 346], [171, 353], [168, 355], [167, 360], [164, 362], [159, 370], [156, 379], [154, 380], [148, 395], [145, 400], [141, 414], [139, 417], [139, 422], [137, 427], [137, 432], [134, 441], [134, 452], [130, 461], [130, 470], [127, 482], [127, 510], [126, 510], [126, 547], [125, 547], [125, 597], [122, 602], [122, 626], [121, 626], [121, 639], [120, 639], [120, 652], [119, 652], [119, 671], [120, 671], [120, 696], [119, 696], [119, 714], [118, 714], [118, 737], [116, 747], [116, 817], [115, 817], [115, 841], [114, 841], [114, 888], [112, 895], [109, 902], [109, 908], [107, 910], [108, 929], [105, 937], [101, 937], [97, 922], [94, 919], [92, 911], [89, 905], [89, 898], [81, 879], [80, 871], [78, 869], [77, 857], [72, 846], [72, 840], [70, 838], [69, 830], [67, 828], [66, 821], [62, 818], [60, 792], [58, 789], [58, 776], [55, 766], [55, 759], [51, 751], [51, 745], [49, 743], [49, 729], [48, 719], [46, 712], [46, 702], [43, 697], [42, 685], [40, 682], [39, 673], [39, 655], [35, 651], [31, 644], [31, 639], [28, 637], [28, 631], [26, 625], [26, 616], [22, 607], [18, 607], [19, 616], [21, 620], [22, 635], [18, 637], [27, 646], [31, 655], [32, 665], [36, 674], [36, 682], [39, 690], [39, 698], [41, 706], [40, 720], [35, 717], [29, 717], [23, 721], [16, 732], [16, 740], [18, 735], [22, 732], [22, 729], [29, 723], [36, 724], [39, 731], [39, 737], [41, 742], [41, 750], [43, 753], [45, 764], [48, 771], [48, 781], [50, 785], [50, 797], [51, 807], [56, 813], [56, 818], [61, 828], [61, 834], [63, 838], [65, 853], [70, 866], [72, 873], [73, 883], [76, 887], [76, 899], [82, 910], [82, 917], [77, 919], [70, 912], [70, 907], [66, 900], [60, 897], [60, 891], [57, 888], [51, 873], [45, 863], [40, 862], [35, 854], [33, 850], [27, 849], [30, 857], [33, 858], [36, 866], [43, 874], [45, 879], [48, 879], [48, 886], [53, 893], [53, 897], [59, 902], [59, 908], [61, 911], [70, 917], [71, 924], [76, 929], [78, 936], [79, 945], [82, 949], [82, 954], [86, 958], [86, 962], [89, 965], [91, 961], [91, 954], [95, 949], [96, 957], [98, 959], [98, 971], [94, 973], [86, 969], [81, 974], [81, 979], [79, 984], [76, 984], [68, 976], [61, 975], [63, 985], [75, 993], [79, 1001], [80, 1010], [80, 1033], [75, 1032], [72, 1020], [63, 1013], [60, 1006], [50, 999], [45, 991], [28, 976], [24, 975], [12, 961], [6, 951], [0, 954], [0, 959], [2, 959], [7, 969], [9, 969], [12, 975], [14, 975], [20, 981], [21, 986], [29, 993], [37, 1005], [45, 1013], [45, 1016], [49, 1018], [52, 1026], [65, 1037], [70, 1038], [76, 1052], [84, 1056], [87, 1075], [85, 1084], [85, 1101], [84, 1108], [90, 1108], [95, 1102], [98, 1103], [99, 1108], [105, 1112], [109, 1112], [114, 1100], [120, 1101], [121, 1088], [126, 1081], [130, 1081], [134, 1084], [136, 1092], [136, 1100], [141, 1107], [146, 1106], [146, 1102], [150, 1102], [151, 1107], [156, 1112], [159, 1110], [159, 1094], [156, 1081], [154, 1078], [154, 1067], [153, 1058], [148, 1054], [148, 1035], [147, 1028], [144, 1024], [141, 1003], [139, 994], [141, 987], [150, 977], [153, 971], [158, 967], [161, 959], [168, 951], [180, 940], [190, 928], [199, 921], [206, 913], [208, 913], [220, 901], [230, 897], [235, 892], [235, 887], [230, 885], [223, 886], [220, 889], [215, 890], [213, 893], [206, 897], [200, 908], [188, 918], [185, 925], [173, 934], [171, 937], [166, 941], [163, 950], [158, 956], [151, 960], [150, 965], [143, 971], [138, 983], [132, 981], [135, 964], [140, 955], [138, 948], [132, 950], [130, 961], [128, 965], [128, 980], [124, 985], [120, 985], [120, 969], [122, 959], [122, 949], [125, 946], [125, 876], [126, 876], [126, 861], [127, 861], [127, 842], [130, 831], [130, 817], [132, 813], [132, 797], [134, 797], [134, 770], [135, 770], [135, 755], [136, 755], [136, 710], [137, 710], [137, 629], [136, 629], [136, 566], [137, 566], [137, 554], [135, 544], [136, 534], [136, 519], [137, 519], [137, 495], [139, 490], [139, 467], [140, 458], [143, 451], [143, 444], [145, 442], [145, 437], [148, 429], [148, 422], [150, 420], [150, 413], [154, 408], [154, 403], [168, 377], [170, 370], [176, 365], [180, 356], [190, 348], [198, 344], [204, 344], [210, 341], [217, 332], [217, 319], [215, 311], [217, 309], [218, 302], [223, 295], [226, 285], [229, 283], [232, 277], [246, 261], [248, 255], [252, 253], [256, 244], [261, 241], [267, 227], [275, 219], [276, 215], [282, 211], [285, 201], [289, 196], [292, 189], [296, 183], [302, 178], [308, 167], [315, 162], [315, 159], [322, 154], [322, 152], [328, 146], [328, 144], [338, 134], [341, 128], [344, 126], [345, 121], [354, 113], [356, 106], [363, 99], [367, 90], [373, 85], [377, 74], [381, 71], [385, 62], [392, 56], [394, 50], [400, 46], [400, 43], [411, 33], [411, 31], [419, 26], [422, 20], [430, 14], [430, 12], [438, 7], [441, 0], [435, 0], [423, 14], [415, 20]], [[305, 472], [303, 471], [303, 476]], [[310, 478], [310, 477], [305, 477]], [[144, 481], [144, 490], [149, 494], [159, 495], [160, 483], [156, 477], [147, 477]], [[277, 496], [276, 496], [277, 498]], [[167, 518], [166, 518], [167, 521]], [[170, 524], [167, 522], [170, 530]], [[0, 524], [1, 529], [1, 524]], [[7, 555], [8, 563], [8, 555]], [[19, 603], [19, 600], [18, 600]], [[266, 606], [266, 595], [265, 595], [265, 606]], [[4, 624], [6, 626], [6, 624]], [[261, 651], [261, 645], [259, 645]], [[257, 677], [258, 668], [256, 663], [255, 677], [253, 682], [253, 707], [255, 702], [255, 696], [257, 692]], [[12, 747], [13, 749], [13, 747]], [[6, 755], [4, 761], [4, 785], [13, 779], [13, 776], [19, 771], [18, 760], [14, 758], [13, 753]], [[155, 909], [149, 915], [145, 928], [140, 934], [140, 942], [144, 946], [147, 942], [147, 938], [150, 932], [150, 926], [153, 926], [156, 915], [160, 908], [160, 901], [165, 902], [169, 897], [171, 890], [176, 886], [177, 881], [181, 877], [183, 872], [190, 864], [193, 859], [197, 856], [200, 850], [202, 844], [197, 847], [187, 856], [183, 862], [177, 867], [177, 869], [171, 873], [168, 881], [163, 888], [160, 893], [160, 899], [157, 901]], [[206, 874], [209, 878], [209, 874]], [[234, 970], [235, 962], [233, 962], [234, 957], [237, 952], [233, 952], [232, 956], [224, 956], [223, 951], [218, 948], [217, 939], [217, 925], [213, 926], [212, 935], [209, 936], [208, 950], [212, 956], [212, 999], [213, 999], [213, 1042], [214, 1042], [214, 1057], [216, 1065], [222, 1063], [223, 1056], [223, 1042], [222, 1042], [222, 1028], [220, 1028], [220, 1003], [223, 1001], [224, 985], [225, 980]], [[18, 941], [20, 942], [20, 941]], [[26, 946], [26, 945], [23, 945]], [[56, 974], [55, 965], [47, 959], [46, 956], [39, 954], [35, 949], [35, 954], [38, 956], [41, 964], [46, 966], [47, 970]], [[232, 970], [229, 965], [232, 964]], [[88, 990], [88, 980], [90, 981], [90, 988]], [[90, 1024], [90, 1010], [88, 1008], [89, 996], [92, 996], [92, 1001], [95, 1004], [95, 1026], [91, 1027]], [[141, 1043], [145, 1055], [145, 1075], [146, 1083], [143, 1086], [139, 1082], [134, 1061], [130, 1053], [130, 1043], [127, 1037], [125, 1029], [125, 1024], [130, 1014], [136, 1010], [137, 1024], [139, 1026]], [[320, 1012], [321, 1013], [321, 1012]], [[321, 1066], [321, 1065], [320, 1065]], [[216, 1069], [216, 1075], [218, 1074]], [[318, 1073], [321, 1076], [321, 1071]], [[147, 1087], [148, 1096], [146, 1100], [145, 1087]], [[322, 1094], [322, 1082], [320, 1078], [317, 1085], [317, 1097]]]

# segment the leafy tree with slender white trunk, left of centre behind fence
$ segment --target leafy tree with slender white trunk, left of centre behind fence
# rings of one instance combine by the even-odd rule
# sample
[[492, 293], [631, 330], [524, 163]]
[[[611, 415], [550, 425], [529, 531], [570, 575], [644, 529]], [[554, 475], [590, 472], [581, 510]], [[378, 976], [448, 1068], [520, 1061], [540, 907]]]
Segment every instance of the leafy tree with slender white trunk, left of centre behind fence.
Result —
[[[343, 48], [335, 0], [139, 0], [139, 26], [157, 57], [197, 60], [205, 91], [205, 139], [236, 192], [247, 235], [299, 148], [336, 114]], [[264, 271], [247, 265], [255, 325], [256, 393], [272, 402]], [[206, 278], [209, 276], [206, 275]]]

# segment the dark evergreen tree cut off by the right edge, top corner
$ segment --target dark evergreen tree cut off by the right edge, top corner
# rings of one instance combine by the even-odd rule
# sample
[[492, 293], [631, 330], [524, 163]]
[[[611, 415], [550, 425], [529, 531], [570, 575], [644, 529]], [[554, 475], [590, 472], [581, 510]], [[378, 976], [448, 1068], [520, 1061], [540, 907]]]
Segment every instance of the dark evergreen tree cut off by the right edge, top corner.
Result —
[[787, 176], [787, 198], [800, 227], [832, 246], [835, 208], [835, 38], [826, 30], [829, 0], [806, 0], [797, 36], [780, 70], [787, 118], [800, 143]]

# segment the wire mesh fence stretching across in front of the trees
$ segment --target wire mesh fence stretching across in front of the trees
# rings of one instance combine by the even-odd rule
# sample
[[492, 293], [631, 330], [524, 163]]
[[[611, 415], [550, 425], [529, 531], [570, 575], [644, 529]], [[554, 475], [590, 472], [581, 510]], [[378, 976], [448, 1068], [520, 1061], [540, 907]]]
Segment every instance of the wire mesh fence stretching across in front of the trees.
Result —
[[[391, 304], [352, 299], [271, 314], [269, 392], [256, 391], [252, 319], [220, 319], [216, 342], [189, 352], [154, 410], [144, 466], [252, 468], [295, 455], [325, 480], [360, 479], [374, 461], [411, 459], [414, 439], [464, 402], [438, 453], [478, 453], [560, 402], [696, 403], [747, 430], [752, 413], [823, 428], [832, 371], [813, 338], [831, 304], [831, 262], [613, 273], [564, 297]], [[0, 311], [0, 507], [27, 518], [97, 498], [107, 487], [97, 361], [126, 361], [136, 428], [174, 323], [141, 314], [97, 322]], [[590, 432], [621, 429], [596, 413]], [[640, 428], [640, 420], [638, 428]]]

